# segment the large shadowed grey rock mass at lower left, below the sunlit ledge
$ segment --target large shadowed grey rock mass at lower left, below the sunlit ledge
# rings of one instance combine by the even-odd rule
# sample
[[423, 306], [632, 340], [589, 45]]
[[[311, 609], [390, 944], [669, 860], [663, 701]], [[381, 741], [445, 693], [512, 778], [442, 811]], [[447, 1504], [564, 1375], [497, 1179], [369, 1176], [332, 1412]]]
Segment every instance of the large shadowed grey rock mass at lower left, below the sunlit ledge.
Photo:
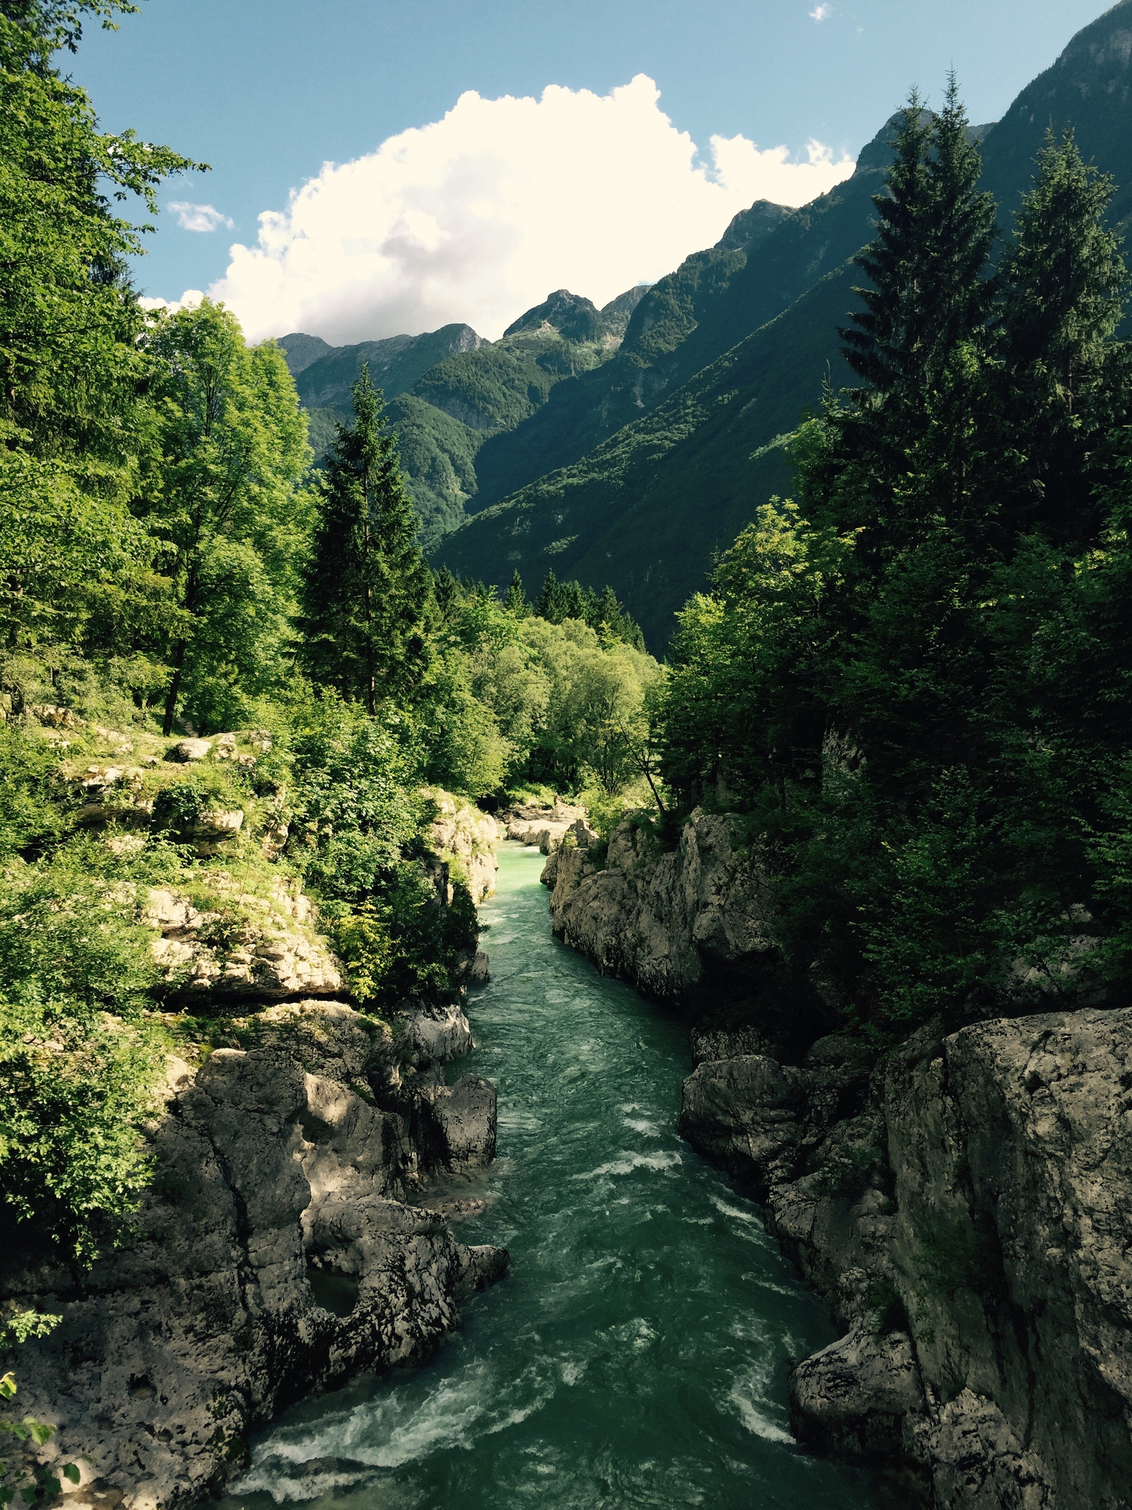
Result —
[[[506, 1268], [504, 1250], [466, 1247], [398, 1199], [414, 1161], [418, 1173], [435, 1163], [373, 1104], [367, 1075], [388, 1030], [312, 1001], [251, 1022], [252, 1048], [217, 1049], [196, 1075], [169, 1065], [131, 1246], [78, 1284], [42, 1267], [0, 1273], [0, 1299], [63, 1317], [17, 1367], [23, 1407], [59, 1428], [44, 1457], [88, 1459], [75, 1510], [214, 1493], [252, 1425], [352, 1373], [424, 1356], [457, 1300]], [[486, 1099], [484, 1083], [465, 1081], [439, 1098], [441, 1122], [454, 1152], [486, 1155], [471, 1132], [460, 1143]]]

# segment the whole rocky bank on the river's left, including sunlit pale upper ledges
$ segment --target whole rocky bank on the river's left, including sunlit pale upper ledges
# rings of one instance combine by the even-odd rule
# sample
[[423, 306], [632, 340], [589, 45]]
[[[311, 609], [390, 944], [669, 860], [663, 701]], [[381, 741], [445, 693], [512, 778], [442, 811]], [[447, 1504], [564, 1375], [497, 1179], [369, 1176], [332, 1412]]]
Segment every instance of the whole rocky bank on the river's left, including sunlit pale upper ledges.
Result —
[[[495, 821], [429, 796], [436, 906], [456, 877], [480, 901], [495, 889]], [[168, 983], [151, 1016], [180, 1045], [127, 1240], [89, 1270], [24, 1228], [0, 1255], [5, 1315], [60, 1318], [0, 1371], [17, 1373], [20, 1413], [56, 1427], [38, 1460], [78, 1463], [74, 1510], [174, 1510], [219, 1490], [252, 1427], [426, 1356], [507, 1267], [503, 1249], [448, 1231], [468, 1202], [429, 1199], [436, 1178], [495, 1157], [494, 1086], [448, 1084], [445, 1069], [472, 1046], [460, 982], [486, 978], [486, 956], [456, 960], [453, 1000], [406, 1000], [382, 1021], [349, 1004], [297, 879], [237, 879], [210, 859], [199, 906], [177, 885], [119, 888]]]

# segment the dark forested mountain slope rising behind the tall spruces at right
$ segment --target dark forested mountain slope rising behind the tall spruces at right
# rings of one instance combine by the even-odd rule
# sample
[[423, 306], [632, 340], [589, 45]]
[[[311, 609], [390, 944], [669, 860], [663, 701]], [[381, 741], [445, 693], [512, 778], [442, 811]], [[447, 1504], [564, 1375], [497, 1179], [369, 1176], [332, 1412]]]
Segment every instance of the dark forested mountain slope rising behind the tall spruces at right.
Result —
[[[1121, 186], [1114, 217], [1132, 214], [1129, 5], [1123, 0], [1079, 32], [999, 124], [978, 128], [984, 181], [1004, 207], [1004, 226], [1050, 124], [1075, 127], [1085, 156]], [[445, 538], [436, 563], [500, 584], [518, 568], [537, 587], [551, 566], [558, 578], [608, 581], [661, 648], [673, 610], [703, 586], [712, 553], [773, 492], [788, 489], [783, 435], [817, 405], [827, 379], [835, 387], [853, 381], [836, 328], [856, 307], [851, 290], [862, 273], [850, 258], [871, 236], [871, 195], [883, 180], [889, 137], [891, 122], [862, 151], [850, 180], [782, 214], [741, 266], [724, 270], [721, 260], [697, 261], [709, 255], [697, 254], [672, 281], [661, 279], [654, 290], [660, 297], [634, 311], [616, 362], [560, 385], [533, 420], [501, 436], [495, 445], [506, 465], [483, 448], [480, 498], [495, 477], [522, 477], [522, 465], [537, 465], [539, 456], [542, 476], [522, 477]], [[696, 297], [675, 297], [682, 278], [694, 282], [685, 269], [696, 267], [708, 270], [706, 287], [696, 284]], [[655, 347], [652, 329], [641, 325], [666, 285], [687, 329], [681, 335], [679, 319], [670, 317], [670, 344], [661, 335], [664, 349], [646, 361]], [[625, 423], [631, 405], [638, 417]]]

